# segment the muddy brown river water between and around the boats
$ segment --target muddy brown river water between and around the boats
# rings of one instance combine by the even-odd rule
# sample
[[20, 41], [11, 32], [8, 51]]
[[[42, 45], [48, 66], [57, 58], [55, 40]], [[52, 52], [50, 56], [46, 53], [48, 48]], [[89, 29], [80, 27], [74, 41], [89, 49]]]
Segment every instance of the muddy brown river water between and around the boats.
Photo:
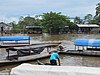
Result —
[[[51, 41], [61, 41], [66, 50], [73, 49], [73, 42], [78, 38], [88, 38], [88, 39], [100, 39], [100, 34], [60, 34], [60, 35], [49, 35], [49, 34], [30, 34], [35, 41], [38, 42], [51, 42]], [[31, 41], [31, 43], [35, 41]], [[0, 50], [0, 58], [6, 56], [4, 50]], [[75, 55], [61, 55], [61, 65], [70, 66], [90, 66], [90, 67], [100, 67], [100, 57], [89, 57], [89, 56], [75, 56]], [[43, 59], [41, 61], [48, 62], [49, 59]], [[36, 62], [31, 62], [36, 64]], [[17, 64], [19, 65], [19, 64]], [[1, 67], [0, 70], [11, 69], [17, 65]]]

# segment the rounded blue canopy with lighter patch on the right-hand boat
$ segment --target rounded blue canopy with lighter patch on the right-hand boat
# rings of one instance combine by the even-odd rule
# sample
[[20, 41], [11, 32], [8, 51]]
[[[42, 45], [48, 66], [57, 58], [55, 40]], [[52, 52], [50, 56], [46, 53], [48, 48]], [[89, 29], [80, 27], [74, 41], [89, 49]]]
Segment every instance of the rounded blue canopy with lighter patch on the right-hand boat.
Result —
[[76, 39], [74, 41], [74, 45], [100, 47], [100, 40], [99, 39]]

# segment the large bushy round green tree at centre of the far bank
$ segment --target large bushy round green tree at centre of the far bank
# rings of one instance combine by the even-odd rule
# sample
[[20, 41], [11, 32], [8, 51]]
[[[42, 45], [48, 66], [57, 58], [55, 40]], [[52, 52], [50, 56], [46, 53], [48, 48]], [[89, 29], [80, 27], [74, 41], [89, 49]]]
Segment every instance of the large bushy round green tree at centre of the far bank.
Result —
[[50, 12], [43, 13], [42, 16], [42, 26], [48, 31], [50, 34], [58, 34], [61, 28], [64, 28], [69, 21], [67, 16], [61, 15], [61, 12]]

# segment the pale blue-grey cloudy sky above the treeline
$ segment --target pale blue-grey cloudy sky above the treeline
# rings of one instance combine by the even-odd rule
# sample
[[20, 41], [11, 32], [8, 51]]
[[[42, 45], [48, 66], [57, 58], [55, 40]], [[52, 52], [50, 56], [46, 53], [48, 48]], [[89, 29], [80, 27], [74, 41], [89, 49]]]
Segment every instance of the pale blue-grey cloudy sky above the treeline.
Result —
[[69, 17], [95, 15], [100, 0], [0, 0], [0, 22], [18, 21], [20, 16], [61, 12]]

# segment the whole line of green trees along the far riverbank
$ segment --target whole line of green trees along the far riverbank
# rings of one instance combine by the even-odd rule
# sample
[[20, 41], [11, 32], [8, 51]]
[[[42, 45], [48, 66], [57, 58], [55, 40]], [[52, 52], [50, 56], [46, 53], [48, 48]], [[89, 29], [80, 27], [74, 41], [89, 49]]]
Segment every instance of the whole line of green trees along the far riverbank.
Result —
[[77, 30], [76, 24], [98, 24], [100, 25], [100, 3], [96, 5], [96, 13], [93, 16], [92, 14], [87, 14], [83, 19], [76, 16], [74, 22], [70, 21], [70, 17], [62, 15], [61, 12], [47, 12], [41, 15], [36, 15], [35, 17], [23, 17], [19, 18], [18, 24], [11, 22], [13, 26], [13, 31], [19, 32], [24, 30], [26, 26], [41, 26], [44, 32], [50, 34], [59, 34], [62, 29], [68, 27], [70, 32]]

